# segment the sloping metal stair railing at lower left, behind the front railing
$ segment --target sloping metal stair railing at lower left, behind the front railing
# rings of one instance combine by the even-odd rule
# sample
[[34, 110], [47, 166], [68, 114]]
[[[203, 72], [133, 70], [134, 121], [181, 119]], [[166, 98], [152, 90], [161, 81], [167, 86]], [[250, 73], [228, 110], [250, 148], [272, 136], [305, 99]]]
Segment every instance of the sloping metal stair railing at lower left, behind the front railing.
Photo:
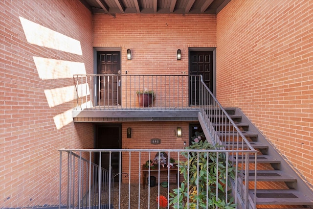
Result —
[[[62, 152], [67, 152], [67, 171], [61, 169], [64, 162]], [[112, 169], [107, 170], [92, 163], [92, 160], [91, 153], [76, 154], [73, 151], [60, 150], [60, 207], [66, 203], [67, 208], [112, 208], [113, 178], [116, 174], [112, 173]], [[62, 184], [64, 182], [67, 184]], [[67, 185], [67, 189], [62, 188], [62, 185]]]

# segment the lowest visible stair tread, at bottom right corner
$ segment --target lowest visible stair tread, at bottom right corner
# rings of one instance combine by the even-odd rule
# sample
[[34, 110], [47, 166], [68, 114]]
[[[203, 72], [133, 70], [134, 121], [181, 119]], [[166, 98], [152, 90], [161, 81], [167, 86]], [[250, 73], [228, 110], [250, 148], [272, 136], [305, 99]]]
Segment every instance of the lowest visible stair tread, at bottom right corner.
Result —
[[[313, 197], [308, 197], [294, 189], [258, 189], [257, 205], [313, 205]], [[249, 190], [254, 198], [254, 190]]]

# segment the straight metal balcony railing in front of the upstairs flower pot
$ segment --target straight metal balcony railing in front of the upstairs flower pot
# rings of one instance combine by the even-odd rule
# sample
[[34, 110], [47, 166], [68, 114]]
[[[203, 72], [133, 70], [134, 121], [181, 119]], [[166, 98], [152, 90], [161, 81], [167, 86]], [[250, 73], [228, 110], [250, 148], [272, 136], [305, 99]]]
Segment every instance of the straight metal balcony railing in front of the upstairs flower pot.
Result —
[[199, 105], [199, 75], [73, 75], [75, 110], [109, 110], [141, 108], [138, 92], [154, 92], [145, 104], [162, 110], [189, 109]]

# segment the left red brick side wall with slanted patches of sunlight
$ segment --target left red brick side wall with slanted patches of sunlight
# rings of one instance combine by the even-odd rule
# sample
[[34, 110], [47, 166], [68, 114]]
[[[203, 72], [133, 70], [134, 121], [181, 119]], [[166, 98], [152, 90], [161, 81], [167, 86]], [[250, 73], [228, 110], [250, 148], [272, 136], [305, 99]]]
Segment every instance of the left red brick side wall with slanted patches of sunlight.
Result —
[[[20, 17], [79, 41], [82, 55], [29, 43]], [[33, 34], [44, 31], [30, 30]], [[53, 39], [42, 41], [51, 45]], [[35, 65], [37, 57], [47, 58], [42, 63], [47, 66], [55, 60], [80, 62], [92, 73], [89, 10], [77, 0], [0, 1], [0, 208], [57, 205], [57, 150], [93, 147], [92, 125], [70, 122], [75, 103], [58, 103], [58, 98], [71, 95], [45, 94], [73, 85], [72, 78], [54, 78], [54, 69]], [[40, 77], [39, 68], [45, 78]], [[58, 66], [58, 70], [64, 68]], [[55, 102], [51, 107], [48, 99]], [[57, 124], [54, 117], [66, 111], [65, 122]]]

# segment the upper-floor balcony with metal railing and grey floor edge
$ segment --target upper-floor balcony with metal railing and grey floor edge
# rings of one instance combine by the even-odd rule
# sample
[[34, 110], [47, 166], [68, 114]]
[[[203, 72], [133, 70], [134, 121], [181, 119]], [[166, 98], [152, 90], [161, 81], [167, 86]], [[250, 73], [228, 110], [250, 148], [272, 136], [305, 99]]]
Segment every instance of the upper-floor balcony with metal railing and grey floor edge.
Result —
[[[208, 98], [198, 75], [74, 75], [74, 121], [195, 121]], [[152, 100], [139, 105], [138, 93]], [[207, 104], [206, 104], [207, 105]]]

